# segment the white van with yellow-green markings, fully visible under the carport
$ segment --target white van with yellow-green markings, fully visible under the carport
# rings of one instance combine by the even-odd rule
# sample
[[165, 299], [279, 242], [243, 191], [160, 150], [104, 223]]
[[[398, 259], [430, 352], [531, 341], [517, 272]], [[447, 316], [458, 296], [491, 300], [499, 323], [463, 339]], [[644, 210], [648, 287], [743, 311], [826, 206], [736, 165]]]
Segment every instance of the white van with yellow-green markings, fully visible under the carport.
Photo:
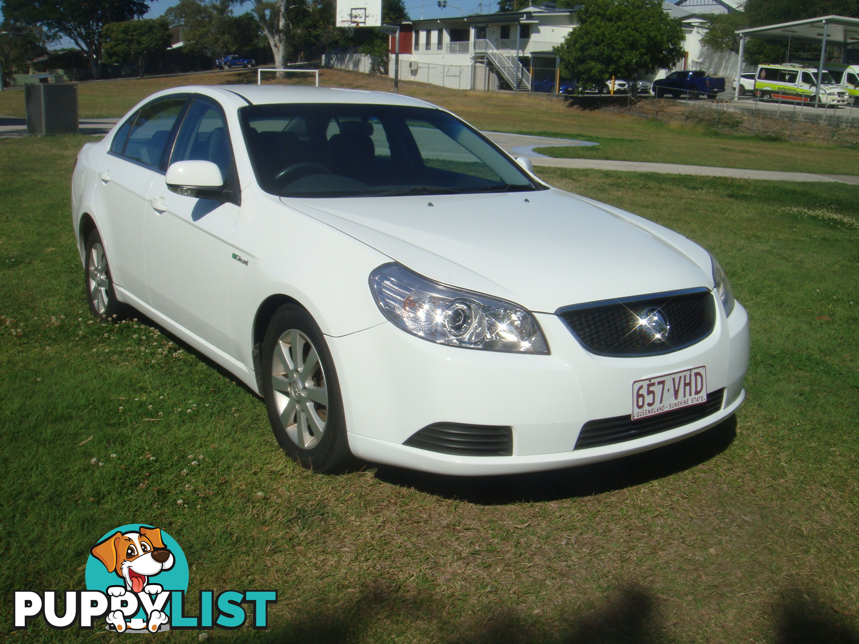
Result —
[[[814, 104], [818, 71], [798, 64], [758, 65], [755, 77], [755, 94], [761, 100], [792, 100]], [[850, 96], [837, 86], [829, 72], [820, 78], [819, 102], [827, 106], [847, 105]]]

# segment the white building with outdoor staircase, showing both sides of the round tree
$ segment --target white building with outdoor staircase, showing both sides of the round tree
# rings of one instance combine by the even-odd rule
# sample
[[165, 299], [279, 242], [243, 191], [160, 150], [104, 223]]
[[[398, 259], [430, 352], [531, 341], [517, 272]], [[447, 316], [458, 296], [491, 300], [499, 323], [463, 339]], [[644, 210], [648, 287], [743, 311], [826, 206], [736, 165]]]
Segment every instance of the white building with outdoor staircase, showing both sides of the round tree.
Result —
[[[736, 10], [728, 9], [729, 3], [736, 0], [680, 2], [710, 3], [725, 11]], [[705, 8], [713, 9], [710, 4]], [[668, 15], [679, 18], [685, 33], [685, 56], [675, 69], [703, 69], [718, 76], [735, 73], [735, 54], [732, 63], [731, 54], [716, 55], [702, 48], [700, 39], [704, 32], [700, 25], [706, 17], [679, 3], [664, 2], [662, 8]], [[554, 85], [559, 79], [557, 56], [552, 48], [576, 28], [576, 11], [531, 6], [497, 14], [402, 22], [399, 25], [399, 77], [460, 89], [529, 91], [535, 80]], [[390, 52], [393, 54], [394, 50], [392, 36]], [[393, 77], [393, 64], [388, 71]], [[662, 70], [651, 76], [661, 78], [671, 71]]]

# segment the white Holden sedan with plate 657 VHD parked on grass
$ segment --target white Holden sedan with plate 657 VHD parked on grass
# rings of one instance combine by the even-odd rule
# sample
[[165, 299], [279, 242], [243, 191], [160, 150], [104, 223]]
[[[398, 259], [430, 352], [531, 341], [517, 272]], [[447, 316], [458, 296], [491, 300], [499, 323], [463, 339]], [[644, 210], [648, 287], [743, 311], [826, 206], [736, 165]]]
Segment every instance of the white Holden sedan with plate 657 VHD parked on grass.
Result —
[[422, 100], [165, 90], [83, 147], [72, 208], [92, 313], [228, 369], [314, 470], [582, 465], [745, 397], [746, 311], [708, 252]]

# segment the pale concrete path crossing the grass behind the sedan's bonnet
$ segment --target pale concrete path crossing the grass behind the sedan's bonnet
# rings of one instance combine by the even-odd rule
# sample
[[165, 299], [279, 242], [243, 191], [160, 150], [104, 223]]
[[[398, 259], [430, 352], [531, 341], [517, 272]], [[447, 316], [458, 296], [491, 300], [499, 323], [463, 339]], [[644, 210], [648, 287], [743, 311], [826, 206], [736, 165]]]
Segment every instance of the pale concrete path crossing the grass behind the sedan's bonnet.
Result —
[[[530, 157], [535, 166], [575, 167], [588, 170], [620, 170], [637, 173], [695, 174], [703, 177], [735, 177], [737, 179], [766, 179], [770, 181], [822, 181], [859, 185], [859, 176], [852, 174], [783, 173], [772, 170], [744, 170], [734, 167], [684, 166], [679, 163], [649, 163], [647, 161], [606, 161], [602, 159], [554, 159], [527, 152], [528, 148], [582, 145], [582, 141], [551, 137], [526, 137], [521, 134], [484, 132], [495, 143], [514, 156]], [[535, 141], [538, 141], [535, 145]]]

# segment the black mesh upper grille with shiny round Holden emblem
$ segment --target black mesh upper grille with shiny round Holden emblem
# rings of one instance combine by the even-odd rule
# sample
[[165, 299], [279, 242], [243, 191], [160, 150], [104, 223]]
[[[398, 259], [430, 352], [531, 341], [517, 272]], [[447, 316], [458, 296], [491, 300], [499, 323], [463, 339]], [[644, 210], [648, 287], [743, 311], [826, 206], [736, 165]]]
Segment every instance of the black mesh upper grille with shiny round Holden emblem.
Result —
[[670, 353], [700, 342], [716, 324], [716, 302], [703, 288], [576, 304], [556, 313], [585, 349], [599, 355]]

